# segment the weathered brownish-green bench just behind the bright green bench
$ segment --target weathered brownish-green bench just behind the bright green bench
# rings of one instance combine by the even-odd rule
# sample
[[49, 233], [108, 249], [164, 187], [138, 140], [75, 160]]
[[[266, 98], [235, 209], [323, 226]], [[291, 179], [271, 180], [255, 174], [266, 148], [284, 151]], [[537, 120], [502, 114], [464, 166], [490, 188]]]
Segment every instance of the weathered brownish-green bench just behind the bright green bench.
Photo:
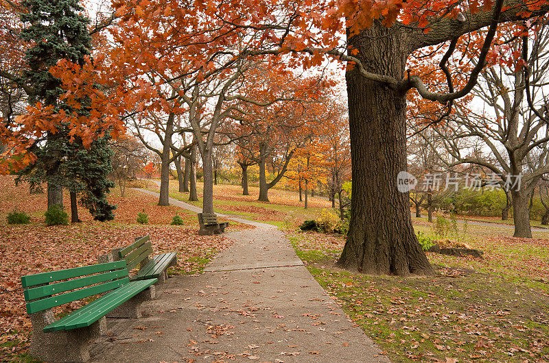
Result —
[[[109, 256], [110, 255], [110, 256]], [[152, 247], [149, 236], [136, 237], [135, 242], [121, 249], [100, 257], [100, 262], [105, 260], [124, 260], [126, 268], [131, 271], [139, 265], [139, 271], [130, 276], [130, 281], [143, 279], [158, 279], [158, 284], [163, 284], [167, 279], [166, 270], [170, 266], [177, 266], [177, 252], [152, 255]]]

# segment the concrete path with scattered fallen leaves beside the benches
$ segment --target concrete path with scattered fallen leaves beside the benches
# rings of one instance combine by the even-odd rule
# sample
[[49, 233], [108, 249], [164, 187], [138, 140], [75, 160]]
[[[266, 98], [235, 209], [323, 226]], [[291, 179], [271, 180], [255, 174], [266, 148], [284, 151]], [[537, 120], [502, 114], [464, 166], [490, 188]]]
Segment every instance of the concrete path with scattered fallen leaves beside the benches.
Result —
[[205, 273], [168, 279], [143, 318], [108, 319], [91, 361], [389, 362], [272, 227], [225, 234]]

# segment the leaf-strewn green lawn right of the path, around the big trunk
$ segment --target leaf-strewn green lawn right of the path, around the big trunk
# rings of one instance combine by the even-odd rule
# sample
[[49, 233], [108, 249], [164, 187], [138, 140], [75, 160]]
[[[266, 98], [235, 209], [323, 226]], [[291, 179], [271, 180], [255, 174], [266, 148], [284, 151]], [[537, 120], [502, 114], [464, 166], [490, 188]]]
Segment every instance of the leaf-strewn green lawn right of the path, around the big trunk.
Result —
[[[415, 223], [430, 234], [428, 223]], [[372, 276], [334, 266], [344, 238], [288, 230], [325, 290], [394, 362], [548, 362], [549, 233], [469, 225], [484, 258], [428, 253], [433, 277]]]

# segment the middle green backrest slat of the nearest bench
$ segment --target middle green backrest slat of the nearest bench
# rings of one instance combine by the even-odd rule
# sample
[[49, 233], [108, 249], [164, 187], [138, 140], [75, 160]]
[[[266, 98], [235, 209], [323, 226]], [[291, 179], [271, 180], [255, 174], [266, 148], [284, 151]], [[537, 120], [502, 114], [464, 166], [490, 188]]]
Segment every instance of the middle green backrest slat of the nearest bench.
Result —
[[127, 270], [124, 269], [111, 271], [108, 273], [100, 273], [99, 275], [80, 277], [79, 279], [71, 279], [68, 281], [58, 282], [56, 284], [38, 286], [36, 288], [27, 288], [27, 290], [25, 290], [24, 292], [25, 300], [30, 301], [34, 299], [40, 299], [42, 297], [49, 297], [50, 295], [60, 294], [61, 292], [74, 290], [75, 288], [83, 288], [84, 286], [90, 286], [113, 279], [119, 279], [127, 274]]

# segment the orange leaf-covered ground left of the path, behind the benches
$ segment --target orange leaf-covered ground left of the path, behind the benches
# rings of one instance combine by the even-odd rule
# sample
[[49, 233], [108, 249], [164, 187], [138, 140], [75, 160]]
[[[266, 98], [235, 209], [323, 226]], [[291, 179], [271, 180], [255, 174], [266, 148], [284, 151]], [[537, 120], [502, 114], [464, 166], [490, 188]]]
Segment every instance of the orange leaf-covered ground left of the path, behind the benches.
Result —
[[[115, 221], [93, 221], [89, 212], [80, 208], [82, 223], [48, 227], [43, 216], [47, 205], [44, 194], [30, 195], [26, 186], [14, 186], [10, 175], [0, 177], [0, 188], [0, 361], [23, 359], [28, 345], [31, 325], [21, 276], [96, 264], [98, 256], [144, 235], [150, 235], [154, 253], [178, 252], [178, 266], [170, 268], [170, 275], [199, 273], [215, 253], [232, 242], [221, 235], [198, 236], [196, 213], [175, 206], [159, 207], [155, 197], [135, 190], [126, 190], [124, 198], [119, 190], [113, 190], [109, 200], [118, 205]], [[68, 195], [65, 197], [64, 203], [69, 205]], [[30, 224], [7, 224], [6, 216], [15, 208], [31, 216]], [[149, 216], [148, 225], [136, 222], [137, 213], [143, 210]], [[168, 225], [176, 213], [184, 225]], [[231, 222], [232, 230], [248, 227]], [[80, 304], [72, 303], [58, 312], [66, 313]]]

